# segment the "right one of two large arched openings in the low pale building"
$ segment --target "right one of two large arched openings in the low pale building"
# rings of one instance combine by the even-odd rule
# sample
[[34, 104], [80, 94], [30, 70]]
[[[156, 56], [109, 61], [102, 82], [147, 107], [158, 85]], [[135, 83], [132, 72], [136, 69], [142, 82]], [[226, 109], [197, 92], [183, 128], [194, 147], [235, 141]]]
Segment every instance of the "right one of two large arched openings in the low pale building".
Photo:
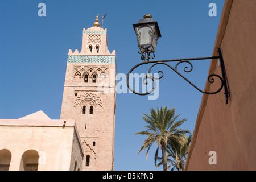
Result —
[[27, 150], [22, 155], [20, 171], [38, 171], [39, 154], [35, 150]]

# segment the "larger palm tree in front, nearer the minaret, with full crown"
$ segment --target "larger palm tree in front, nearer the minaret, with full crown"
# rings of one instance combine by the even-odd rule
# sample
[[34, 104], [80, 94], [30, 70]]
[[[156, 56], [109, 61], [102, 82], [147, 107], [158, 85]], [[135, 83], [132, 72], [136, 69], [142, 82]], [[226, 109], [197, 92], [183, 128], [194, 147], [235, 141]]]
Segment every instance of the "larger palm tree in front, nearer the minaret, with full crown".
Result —
[[[140, 131], [135, 133], [135, 135], [147, 135], [147, 138], [144, 140], [143, 145], [139, 152], [146, 150], [146, 159], [148, 156], [148, 151], [153, 143], [157, 144], [155, 152], [155, 166], [156, 159], [158, 158], [159, 147], [162, 150], [162, 164], [163, 170], [167, 170], [167, 146], [168, 143], [180, 143], [184, 144], [184, 134], [189, 133], [188, 130], [178, 129], [181, 124], [183, 124], [187, 119], [181, 119], [176, 121], [179, 115], [175, 116], [175, 108], [168, 109], [167, 106], [161, 107], [160, 109], [150, 109], [150, 115], [143, 113], [142, 117], [148, 125], [144, 126], [147, 128], [146, 131]], [[138, 152], [138, 154], [139, 154]]]

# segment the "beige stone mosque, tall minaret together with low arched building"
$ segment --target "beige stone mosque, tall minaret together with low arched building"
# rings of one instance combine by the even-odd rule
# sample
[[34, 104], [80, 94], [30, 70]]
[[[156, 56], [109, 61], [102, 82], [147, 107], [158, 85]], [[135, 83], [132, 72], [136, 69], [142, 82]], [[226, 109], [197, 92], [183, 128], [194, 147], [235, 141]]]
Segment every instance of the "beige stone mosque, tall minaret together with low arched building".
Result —
[[82, 48], [68, 52], [59, 120], [43, 111], [0, 119], [0, 170], [114, 169], [115, 51], [98, 16]]

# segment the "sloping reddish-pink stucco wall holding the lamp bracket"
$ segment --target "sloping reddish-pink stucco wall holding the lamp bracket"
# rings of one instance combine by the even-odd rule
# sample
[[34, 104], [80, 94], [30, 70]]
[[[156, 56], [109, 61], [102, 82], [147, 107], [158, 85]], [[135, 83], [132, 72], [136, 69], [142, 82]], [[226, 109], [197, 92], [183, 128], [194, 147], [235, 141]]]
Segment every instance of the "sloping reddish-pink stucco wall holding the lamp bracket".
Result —
[[[230, 99], [224, 90], [204, 95], [197, 116], [186, 170], [256, 169], [256, 1], [228, 0], [222, 11], [213, 55], [221, 48]], [[209, 73], [221, 75], [217, 60]], [[206, 84], [211, 91], [215, 84]], [[216, 151], [217, 164], [209, 164]]]

